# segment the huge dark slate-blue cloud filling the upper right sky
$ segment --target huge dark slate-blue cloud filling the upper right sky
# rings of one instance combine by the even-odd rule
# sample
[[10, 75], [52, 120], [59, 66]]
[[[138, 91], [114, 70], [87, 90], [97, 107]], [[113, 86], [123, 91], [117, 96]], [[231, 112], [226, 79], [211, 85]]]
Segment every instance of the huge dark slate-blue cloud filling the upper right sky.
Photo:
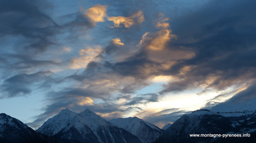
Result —
[[[173, 21], [173, 33], [178, 39], [172, 47], [189, 47], [196, 56], [166, 71], [183, 80], [168, 84], [161, 93], [203, 84], [223, 90], [239, 82], [255, 80], [255, 6], [253, 1], [212, 1]], [[207, 82], [211, 78], [212, 82]]]

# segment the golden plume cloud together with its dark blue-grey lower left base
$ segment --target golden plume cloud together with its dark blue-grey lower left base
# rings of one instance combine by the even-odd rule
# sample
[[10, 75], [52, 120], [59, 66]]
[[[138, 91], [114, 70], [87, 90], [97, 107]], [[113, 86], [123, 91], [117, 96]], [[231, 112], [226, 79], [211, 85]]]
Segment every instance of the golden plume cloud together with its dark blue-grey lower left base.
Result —
[[[164, 25], [164, 21], [158, 23]], [[158, 24], [157, 24], [158, 25]], [[166, 24], [167, 25], [167, 24]], [[171, 34], [168, 26], [157, 26], [157, 32], [146, 32], [140, 44], [140, 49], [131, 56], [115, 63], [106, 61], [104, 66], [122, 76], [133, 76], [136, 79], [147, 80], [152, 76], [171, 75], [169, 68], [177, 61], [190, 59], [195, 53], [190, 49], [172, 49], [170, 42], [177, 36]], [[113, 49], [114, 46], [107, 48]]]

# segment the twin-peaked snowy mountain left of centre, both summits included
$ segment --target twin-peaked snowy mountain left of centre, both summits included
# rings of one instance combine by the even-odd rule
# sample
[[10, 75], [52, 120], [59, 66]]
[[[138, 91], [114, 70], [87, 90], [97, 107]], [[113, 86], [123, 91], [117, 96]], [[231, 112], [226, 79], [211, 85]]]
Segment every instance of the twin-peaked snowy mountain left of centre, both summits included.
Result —
[[136, 136], [114, 126], [89, 109], [79, 114], [62, 110], [37, 132], [75, 142], [141, 142]]

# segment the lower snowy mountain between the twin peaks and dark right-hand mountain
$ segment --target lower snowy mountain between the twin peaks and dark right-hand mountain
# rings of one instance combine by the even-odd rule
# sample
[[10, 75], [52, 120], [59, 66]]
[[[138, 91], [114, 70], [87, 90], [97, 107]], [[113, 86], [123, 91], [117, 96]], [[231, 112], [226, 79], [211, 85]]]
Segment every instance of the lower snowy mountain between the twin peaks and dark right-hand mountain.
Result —
[[137, 136], [142, 142], [152, 142], [162, 133], [162, 129], [138, 117], [115, 118], [110, 120], [110, 122], [117, 127], [126, 129]]

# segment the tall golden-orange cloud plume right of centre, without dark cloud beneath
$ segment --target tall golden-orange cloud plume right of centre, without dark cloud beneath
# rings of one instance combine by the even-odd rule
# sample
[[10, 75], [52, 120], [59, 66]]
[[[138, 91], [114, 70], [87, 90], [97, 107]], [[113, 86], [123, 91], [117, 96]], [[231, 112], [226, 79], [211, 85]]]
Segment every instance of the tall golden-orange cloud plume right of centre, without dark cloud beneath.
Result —
[[[148, 58], [152, 61], [163, 63], [163, 68], [170, 67], [174, 64], [174, 61], [178, 59], [190, 59], [195, 56], [193, 51], [184, 49], [174, 50], [169, 48], [169, 41], [176, 39], [177, 35], [172, 34], [169, 29], [168, 19], [162, 19], [157, 22], [156, 28], [158, 29], [155, 33], [146, 32], [140, 40], [137, 46], [143, 46], [147, 52]], [[169, 65], [169, 66], [166, 66]]]

